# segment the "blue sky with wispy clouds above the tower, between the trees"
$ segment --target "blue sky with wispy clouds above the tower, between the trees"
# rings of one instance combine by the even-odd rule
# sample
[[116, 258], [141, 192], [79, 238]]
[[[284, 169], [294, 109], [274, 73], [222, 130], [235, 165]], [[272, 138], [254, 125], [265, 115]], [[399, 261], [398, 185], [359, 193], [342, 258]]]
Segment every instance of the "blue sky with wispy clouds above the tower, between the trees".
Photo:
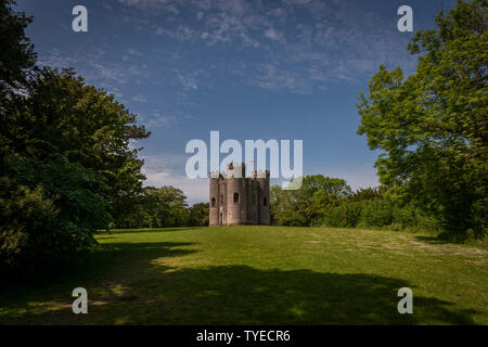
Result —
[[[74, 67], [139, 115], [146, 184], [175, 185], [190, 203], [208, 201], [206, 180], [185, 177], [191, 139], [299, 139], [304, 174], [377, 184], [357, 98], [384, 64], [415, 68], [397, 29], [413, 9], [413, 30], [434, 27], [453, 0], [17, 0], [39, 63]], [[74, 33], [72, 9], [88, 9]], [[222, 155], [222, 158], [224, 155]]]

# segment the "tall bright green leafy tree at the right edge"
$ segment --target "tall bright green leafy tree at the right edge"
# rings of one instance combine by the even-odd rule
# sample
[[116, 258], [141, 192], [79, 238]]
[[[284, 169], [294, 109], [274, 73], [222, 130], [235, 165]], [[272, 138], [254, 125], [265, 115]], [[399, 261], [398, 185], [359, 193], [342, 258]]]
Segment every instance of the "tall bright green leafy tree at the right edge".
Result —
[[487, 1], [458, 1], [436, 17], [437, 30], [415, 34], [408, 49], [416, 72], [384, 66], [361, 93], [359, 134], [372, 150], [380, 180], [400, 187], [445, 228], [479, 233], [487, 226]]

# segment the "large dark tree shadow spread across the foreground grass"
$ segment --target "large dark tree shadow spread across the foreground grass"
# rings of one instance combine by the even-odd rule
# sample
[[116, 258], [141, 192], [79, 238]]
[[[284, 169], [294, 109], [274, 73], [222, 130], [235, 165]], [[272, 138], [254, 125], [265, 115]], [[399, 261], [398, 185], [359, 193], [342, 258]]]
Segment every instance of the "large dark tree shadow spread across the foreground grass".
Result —
[[[373, 274], [262, 270], [248, 266], [171, 267], [190, 243], [110, 244], [92, 264], [49, 291], [18, 297], [1, 313], [12, 324], [473, 324], [476, 312], [415, 296], [399, 314], [403, 280]], [[164, 258], [163, 262], [155, 259]], [[72, 312], [70, 291], [85, 286], [89, 314]], [[118, 287], [119, 293], [113, 288]], [[112, 288], [112, 290], [111, 290]], [[46, 290], [46, 288], [44, 288]], [[64, 303], [23, 311], [29, 300]], [[1, 306], [1, 305], [0, 305]]]

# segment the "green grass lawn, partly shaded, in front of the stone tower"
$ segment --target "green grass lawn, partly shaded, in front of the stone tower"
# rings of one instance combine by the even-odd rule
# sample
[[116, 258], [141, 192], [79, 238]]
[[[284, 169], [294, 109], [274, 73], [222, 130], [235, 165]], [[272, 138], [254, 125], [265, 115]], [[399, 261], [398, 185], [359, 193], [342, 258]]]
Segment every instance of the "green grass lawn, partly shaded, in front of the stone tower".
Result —
[[[325, 228], [119, 230], [88, 264], [2, 285], [0, 324], [488, 324], [488, 250]], [[85, 287], [89, 313], [74, 314]], [[413, 291], [413, 314], [397, 292]]]

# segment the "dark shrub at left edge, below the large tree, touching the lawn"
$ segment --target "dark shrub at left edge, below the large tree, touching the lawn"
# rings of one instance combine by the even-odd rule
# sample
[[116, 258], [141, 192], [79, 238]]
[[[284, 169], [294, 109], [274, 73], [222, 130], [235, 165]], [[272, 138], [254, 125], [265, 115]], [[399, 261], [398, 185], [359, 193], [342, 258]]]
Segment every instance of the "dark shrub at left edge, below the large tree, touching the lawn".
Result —
[[[2, 179], [2, 188], [8, 185]], [[93, 245], [91, 230], [60, 216], [57, 197], [21, 185], [0, 197], [0, 273], [31, 275]], [[5, 195], [5, 194], [2, 194]]]

